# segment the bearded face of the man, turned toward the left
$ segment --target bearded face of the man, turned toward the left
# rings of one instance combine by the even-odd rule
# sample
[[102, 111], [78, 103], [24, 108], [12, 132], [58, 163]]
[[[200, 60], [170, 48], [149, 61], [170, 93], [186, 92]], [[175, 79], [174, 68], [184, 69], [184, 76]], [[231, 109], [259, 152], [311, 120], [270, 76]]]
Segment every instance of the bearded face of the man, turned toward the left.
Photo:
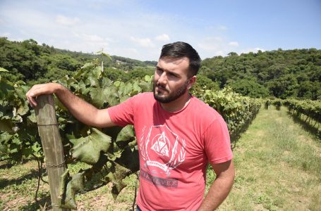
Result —
[[183, 58], [160, 58], [154, 77], [154, 97], [160, 103], [170, 103], [188, 91], [189, 60]]

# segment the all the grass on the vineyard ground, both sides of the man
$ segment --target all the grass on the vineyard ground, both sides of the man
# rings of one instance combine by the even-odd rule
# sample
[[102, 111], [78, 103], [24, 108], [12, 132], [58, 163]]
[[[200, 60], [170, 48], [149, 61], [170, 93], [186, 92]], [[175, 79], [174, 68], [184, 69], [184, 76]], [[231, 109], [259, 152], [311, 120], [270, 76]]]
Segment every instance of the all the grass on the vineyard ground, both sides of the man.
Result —
[[[295, 123], [286, 108], [260, 110], [236, 143], [236, 179], [219, 210], [321, 210], [321, 141]], [[87, 165], [69, 165], [71, 173]], [[207, 188], [214, 180], [207, 171]], [[47, 177], [44, 177], [47, 180]], [[78, 194], [78, 210], [131, 210], [136, 176], [116, 200], [111, 185]], [[6, 165], [0, 162], [0, 210], [41, 210], [49, 205], [49, 186], [37, 188], [37, 162]]]

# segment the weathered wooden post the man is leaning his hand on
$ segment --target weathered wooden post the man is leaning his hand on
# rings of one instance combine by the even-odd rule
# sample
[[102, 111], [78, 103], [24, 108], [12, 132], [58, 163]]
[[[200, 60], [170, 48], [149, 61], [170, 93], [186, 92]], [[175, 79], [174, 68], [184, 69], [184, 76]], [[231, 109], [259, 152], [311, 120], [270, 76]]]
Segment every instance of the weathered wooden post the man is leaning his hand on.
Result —
[[37, 104], [35, 113], [47, 166], [52, 210], [66, 210], [58, 206], [59, 179], [66, 170], [66, 163], [63, 158], [63, 145], [54, 110], [54, 96], [52, 94], [38, 96]]

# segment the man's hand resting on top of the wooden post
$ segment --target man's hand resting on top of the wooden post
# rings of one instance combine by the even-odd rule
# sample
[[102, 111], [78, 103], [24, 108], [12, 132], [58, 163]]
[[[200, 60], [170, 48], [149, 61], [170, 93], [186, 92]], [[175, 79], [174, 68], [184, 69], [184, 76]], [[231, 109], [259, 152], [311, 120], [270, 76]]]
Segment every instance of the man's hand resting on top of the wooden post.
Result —
[[62, 86], [56, 83], [37, 84], [31, 87], [31, 89], [25, 94], [25, 96], [27, 97], [30, 106], [36, 107], [37, 101], [35, 101], [35, 98], [37, 98], [37, 96], [40, 96], [42, 94], [54, 94], [59, 90], [59, 87]]

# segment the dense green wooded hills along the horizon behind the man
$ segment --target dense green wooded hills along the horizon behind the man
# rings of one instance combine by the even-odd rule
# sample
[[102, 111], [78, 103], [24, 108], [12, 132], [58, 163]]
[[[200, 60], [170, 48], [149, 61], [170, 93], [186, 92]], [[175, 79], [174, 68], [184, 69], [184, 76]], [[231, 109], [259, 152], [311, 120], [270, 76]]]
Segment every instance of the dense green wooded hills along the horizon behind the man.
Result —
[[[9, 41], [0, 37], [1, 72], [10, 81], [23, 80], [28, 84], [49, 82], [73, 75], [84, 63], [99, 54], [56, 49], [37, 41]], [[127, 82], [133, 78], [152, 75], [156, 61], [140, 61], [121, 56], [103, 60], [108, 77]], [[321, 50], [293, 49], [231, 52], [228, 56], [214, 56], [202, 60], [196, 89], [231, 87], [243, 96], [254, 98], [321, 98]]]

